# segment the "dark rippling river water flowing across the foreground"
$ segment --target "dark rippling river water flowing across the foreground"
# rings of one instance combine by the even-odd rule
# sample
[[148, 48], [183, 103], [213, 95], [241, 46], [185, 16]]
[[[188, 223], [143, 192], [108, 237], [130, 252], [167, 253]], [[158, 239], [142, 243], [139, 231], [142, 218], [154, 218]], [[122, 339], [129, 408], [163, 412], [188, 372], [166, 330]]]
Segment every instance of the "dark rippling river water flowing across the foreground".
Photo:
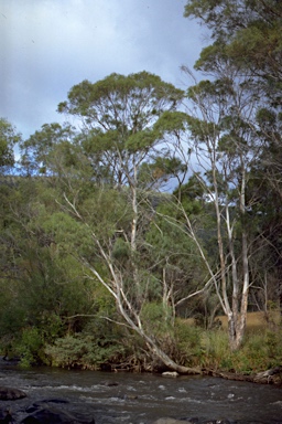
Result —
[[19, 370], [0, 364], [0, 385], [28, 394], [23, 400], [0, 401], [0, 409], [12, 409], [17, 423], [32, 403], [61, 399], [69, 403], [59, 407], [94, 417], [96, 424], [149, 424], [160, 417], [282, 424], [281, 388], [212, 377]]

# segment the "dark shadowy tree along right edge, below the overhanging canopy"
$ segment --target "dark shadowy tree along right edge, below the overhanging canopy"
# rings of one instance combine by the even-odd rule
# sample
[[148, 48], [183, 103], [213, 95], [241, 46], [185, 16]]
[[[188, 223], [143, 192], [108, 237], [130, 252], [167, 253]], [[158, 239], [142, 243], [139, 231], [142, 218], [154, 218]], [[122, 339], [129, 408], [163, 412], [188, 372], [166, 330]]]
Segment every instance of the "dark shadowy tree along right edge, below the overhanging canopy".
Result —
[[258, 239], [257, 245], [253, 246], [261, 251], [260, 246], [263, 244], [263, 254], [260, 252], [258, 258], [254, 257], [256, 272], [252, 273], [261, 280], [261, 284], [256, 282], [256, 286], [260, 294], [263, 293], [262, 309], [268, 316], [269, 306], [273, 308], [275, 305], [282, 311], [281, 113], [269, 107], [261, 108], [257, 114], [257, 126], [261, 155], [252, 168], [250, 190], [257, 199], [257, 205], [252, 210], [253, 222], [257, 223], [264, 241]]

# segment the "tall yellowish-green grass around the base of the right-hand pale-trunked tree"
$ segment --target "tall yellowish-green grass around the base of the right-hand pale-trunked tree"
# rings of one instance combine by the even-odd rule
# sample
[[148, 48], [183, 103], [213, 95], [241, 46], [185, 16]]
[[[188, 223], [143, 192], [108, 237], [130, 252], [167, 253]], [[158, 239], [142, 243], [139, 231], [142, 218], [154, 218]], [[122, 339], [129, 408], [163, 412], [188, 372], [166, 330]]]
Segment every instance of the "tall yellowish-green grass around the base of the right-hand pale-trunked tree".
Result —
[[[282, 327], [280, 325], [280, 311], [271, 311], [268, 316], [264, 312], [248, 312], [245, 340], [237, 351], [229, 349], [227, 317], [219, 316], [216, 319], [221, 321], [219, 329], [199, 330], [200, 354], [196, 354], [197, 363], [195, 364], [207, 369], [245, 374], [281, 365]], [[191, 326], [194, 327], [193, 320], [186, 319], [185, 322], [188, 324], [189, 328]]]

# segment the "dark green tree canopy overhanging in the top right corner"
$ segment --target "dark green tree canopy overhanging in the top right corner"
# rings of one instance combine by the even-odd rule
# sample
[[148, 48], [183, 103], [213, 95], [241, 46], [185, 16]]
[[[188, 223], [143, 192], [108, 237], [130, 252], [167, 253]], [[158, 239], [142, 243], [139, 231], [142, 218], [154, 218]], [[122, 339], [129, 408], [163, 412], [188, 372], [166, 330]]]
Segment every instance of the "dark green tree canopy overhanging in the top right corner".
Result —
[[204, 49], [196, 66], [214, 72], [228, 57], [248, 71], [269, 92], [281, 89], [282, 6], [276, 0], [188, 0], [185, 17], [195, 17], [210, 30], [214, 44]]

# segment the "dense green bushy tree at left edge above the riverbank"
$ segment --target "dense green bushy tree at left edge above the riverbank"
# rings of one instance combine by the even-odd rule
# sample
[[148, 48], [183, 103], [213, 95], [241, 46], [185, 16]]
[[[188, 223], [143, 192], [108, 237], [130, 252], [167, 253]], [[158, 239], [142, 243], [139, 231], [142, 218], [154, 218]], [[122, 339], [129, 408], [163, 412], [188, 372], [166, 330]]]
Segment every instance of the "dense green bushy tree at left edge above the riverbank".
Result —
[[[82, 229], [70, 229], [57, 211], [55, 200], [66, 187], [46, 180], [17, 177], [1, 184], [1, 348], [25, 363], [44, 360], [44, 343], [82, 331], [85, 315], [99, 309], [91, 282], [68, 253], [74, 239], [87, 243]], [[37, 349], [31, 351], [33, 341]]]

